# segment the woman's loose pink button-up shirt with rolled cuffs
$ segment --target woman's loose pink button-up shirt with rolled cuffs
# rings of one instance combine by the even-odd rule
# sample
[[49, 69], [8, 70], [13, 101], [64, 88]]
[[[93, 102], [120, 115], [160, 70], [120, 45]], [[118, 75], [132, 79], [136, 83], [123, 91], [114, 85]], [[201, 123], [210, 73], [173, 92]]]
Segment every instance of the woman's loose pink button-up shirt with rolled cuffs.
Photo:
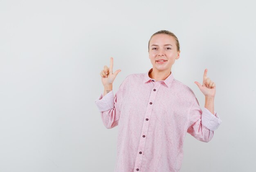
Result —
[[115, 172], [179, 172], [186, 133], [209, 142], [222, 122], [173, 72], [156, 81], [149, 71], [128, 75], [115, 96], [95, 101], [104, 126], [119, 126]]

